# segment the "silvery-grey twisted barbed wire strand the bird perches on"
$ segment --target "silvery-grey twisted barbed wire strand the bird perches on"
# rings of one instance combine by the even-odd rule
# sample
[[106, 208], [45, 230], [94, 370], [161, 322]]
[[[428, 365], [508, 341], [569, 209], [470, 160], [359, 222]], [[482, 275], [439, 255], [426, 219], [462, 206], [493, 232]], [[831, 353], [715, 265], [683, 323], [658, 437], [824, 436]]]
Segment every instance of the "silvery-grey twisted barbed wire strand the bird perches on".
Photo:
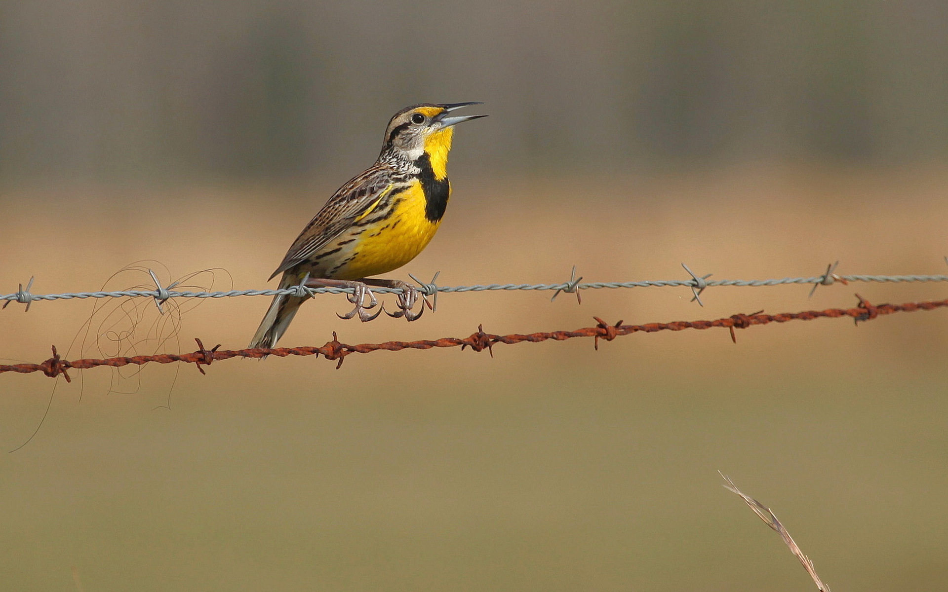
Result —
[[[948, 262], [948, 258], [946, 258]], [[687, 287], [691, 289], [694, 297], [693, 301], [698, 301], [702, 306], [701, 295], [702, 292], [710, 287], [715, 286], [733, 286], [733, 287], [770, 287], [770, 286], [781, 286], [781, 285], [792, 285], [792, 284], [812, 284], [812, 290], [810, 296], [819, 286], [830, 286], [835, 282], [840, 282], [843, 284], [848, 284], [848, 282], [883, 282], [883, 283], [902, 283], [902, 282], [931, 282], [931, 281], [948, 281], [948, 276], [921, 276], [921, 275], [909, 275], [909, 276], [874, 276], [874, 275], [848, 275], [842, 276], [837, 275], [834, 272], [836, 266], [839, 264], [839, 261], [832, 263], [827, 266], [827, 271], [821, 276], [812, 276], [810, 278], [775, 278], [775, 279], [708, 279], [712, 274], [705, 274], [703, 276], [698, 276], [687, 265], [682, 263], [684, 270], [691, 276], [690, 279], [660, 279], [660, 280], [643, 280], [643, 281], [594, 281], [581, 283], [582, 278], [576, 278], [576, 268], [573, 268], [573, 274], [569, 281], [561, 283], [507, 283], [507, 284], [475, 284], [470, 286], [439, 286], [435, 283], [438, 278], [438, 275], [441, 272], [438, 272], [431, 278], [431, 281], [424, 282], [411, 276], [410, 278], [414, 279], [420, 286], [419, 291], [424, 293], [426, 296], [435, 296], [439, 293], [464, 293], [464, 292], [488, 292], [488, 291], [555, 291], [556, 294], [553, 295], [555, 299], [560, 293], [575, 294], [576, 298], [579, 299], [579, 291], [581, 290], [603, 290], [603, 289], [618, 289], [618, 288], [647, 288], [647, 287]], [[6, 300], [4, 302], [3, 308], [7, 308], [10, 302], [19, 302], [21, 304], [27, 305], [27, 311], [29, 310], [30, 304], [39, 300], [70, 300], [73, 298], [155, 298], [155, 304], [158, 306], [158, 309], [161, 309], [161, 304], [170, 298], [228, 298], [235, 296], [315, 296], [317, 294], [352, 294], [352, 288], [308, 288], [303, 285], [297, 285], [289, 288], [281, 289], [264, 289], [264, 290], [228, 290], [228, 291], [218, 291], [218, 292], [192, 292], [192, 291], [175, 291], [174, 287], [178, 285], [178, 282], [173, 282], [168, 286], [162, 286], [155, 272], [148, 270], [148, 273], [151, 275], [152, 279], [155, 281], [155, 290], [119, 290], [113, 292], [71, 292], [65, 294], [32, 294], [30, 290], [33, 286], [33, 280], [35, 278], [29, 278], [27, 282], [27, 287], [24, 288], [23, 284], [19, 285], [19, 289], [8, 295], [0, 296], [0, 300]], [[401, 288], [382, 288], [382, 287], [373, 287], [372, 291], [378, 294], [401, 294]]]

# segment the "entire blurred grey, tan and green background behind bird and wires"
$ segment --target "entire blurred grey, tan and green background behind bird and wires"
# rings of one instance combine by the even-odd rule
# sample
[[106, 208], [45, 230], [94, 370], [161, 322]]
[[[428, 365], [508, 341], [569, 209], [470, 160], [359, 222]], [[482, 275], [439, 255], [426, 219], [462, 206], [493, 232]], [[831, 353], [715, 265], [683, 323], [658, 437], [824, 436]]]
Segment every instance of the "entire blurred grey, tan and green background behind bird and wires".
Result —
[[[0, 294], [32, 276], [36, 294], [147, 286], [148, 268], [272, 286], [396, 110], [466, 100], [491, 117], [458, 130], [446, 221], [392, 277], [942, 274], [946, 27], [934, 0], [0, 1]], [[344, 298], [319, 296], [281, 345], [847, 308], [854, 292], [944, 297], [442, 295], [409, 325], [342, 321]], [[238, 349], [267, 303], [14, 303], [0, 358]], [[720, 330], [339, 370], [96, 368], [55, 389], [0, 375], [0, 448], [36, 432], [0, 457], [0, 573], [16, 590], [808, 589], [721, 470], [834, 589], [937, 588], [946, 330], [932, 312], [736, 345]]]

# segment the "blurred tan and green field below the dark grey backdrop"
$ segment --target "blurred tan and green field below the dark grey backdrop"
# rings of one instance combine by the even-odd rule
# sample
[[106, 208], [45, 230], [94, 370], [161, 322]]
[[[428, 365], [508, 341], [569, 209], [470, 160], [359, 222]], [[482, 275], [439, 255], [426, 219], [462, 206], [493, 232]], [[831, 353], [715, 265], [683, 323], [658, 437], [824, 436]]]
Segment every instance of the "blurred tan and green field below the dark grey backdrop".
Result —
[[[939, 274], [943, 168], [746, 167], [685, 176], [454, 175], [411, 272], [442, 284], [822, 273]], [[223, 267], [263, 287], [338, 178], [3, 195], [0, 292], [93, 290], [135, 260], [164, 280]], [[134, 199], [132, 199], [134, 197]], [[162, 272], [165, 273], [165, 272]], [[137, 278], [136, 282], [142, 281]], [[218, 275], [215, 288], [228, 288]], [[272, 285], [272, 284], [271, 284]], [[124, 286], [115, 286], [124, 287]], [[417, 323], [337, 319], [320, 296], [282, 345], [574, 329], [940, 299], [938, 284], [442, 295]], [[246, 345], [264, 297], [204, 302], [192, 338]], [[153, 314], [154, 305], [143, 303]], [[63, 350], [88, 301], [0, 314], [0, 357]], [[154, 314], [153, 314], [154, 318]], [[10, 590], [801, 590], [811, 583], [719, 469], [774, 508], [837, 590], [936, 589], [948, 562], [944, 312], [853, 327], [636, 334], [350, 356], [87, 371], [0, 457]], [[147, 344], [146, 344], [147, 345]], [[169, 344], [170, 350], [177, 346]], [[74, 348], [71, 357], [88, 350]], [[111, 382], [110, 382], [111, 381]], [[118, 382], [116, 382], [118, 381]], [[110, 384], [117, 391], [110, 393]], [[0, 376], [0, 444], [53, 382]], [[166, 406], [170, 406], [167, 408]]]

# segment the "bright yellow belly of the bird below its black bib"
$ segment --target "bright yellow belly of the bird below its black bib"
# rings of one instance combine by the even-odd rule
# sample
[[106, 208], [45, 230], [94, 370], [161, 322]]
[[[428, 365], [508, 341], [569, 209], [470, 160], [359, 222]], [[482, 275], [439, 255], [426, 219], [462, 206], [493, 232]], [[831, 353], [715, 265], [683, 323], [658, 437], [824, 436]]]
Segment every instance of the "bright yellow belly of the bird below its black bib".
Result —
[[[366, 226], [349, 261], [332, 275], [337, 279], [369, 278], [386, 274], [413, 260], [428, 246], [438, 222], [425, 217], [425, 193], [420, 185], [402, 192], [392, 206], [392, 215]], [[371, 215], [371, 214], [370, 214]]]

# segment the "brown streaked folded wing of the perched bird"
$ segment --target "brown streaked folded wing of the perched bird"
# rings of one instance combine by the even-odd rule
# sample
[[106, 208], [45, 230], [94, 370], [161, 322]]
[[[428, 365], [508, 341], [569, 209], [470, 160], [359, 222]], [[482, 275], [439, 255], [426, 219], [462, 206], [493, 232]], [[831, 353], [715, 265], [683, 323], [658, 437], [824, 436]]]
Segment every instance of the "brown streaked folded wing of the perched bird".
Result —
[[386, 188], [400, 180], [401, 175], [397, 171], [387, 165], [376, 164], [338, 188], [313, 220], [302, 229], [270, 279], [319, 252], [319, 249], [351, 226], [360, 214], [373, 206]]

